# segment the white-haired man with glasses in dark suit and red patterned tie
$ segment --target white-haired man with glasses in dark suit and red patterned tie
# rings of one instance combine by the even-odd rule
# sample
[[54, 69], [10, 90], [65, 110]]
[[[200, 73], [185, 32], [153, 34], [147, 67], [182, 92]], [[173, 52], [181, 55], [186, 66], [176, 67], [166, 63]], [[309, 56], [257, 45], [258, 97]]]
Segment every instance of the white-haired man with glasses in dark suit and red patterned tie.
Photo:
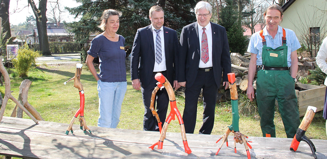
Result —
[[185, 132], [193, 134], [202, 89], [204, 111], [199, 134], [211, 134], [222, 74], [223, 86], [229, 87], [231, 57], [226, 29], [210, 22], [212, 6], [200, 1], [194, 10], [197, 22], [183, 27], [178, 56], [178, 82], [186, 87], [183, 121]]

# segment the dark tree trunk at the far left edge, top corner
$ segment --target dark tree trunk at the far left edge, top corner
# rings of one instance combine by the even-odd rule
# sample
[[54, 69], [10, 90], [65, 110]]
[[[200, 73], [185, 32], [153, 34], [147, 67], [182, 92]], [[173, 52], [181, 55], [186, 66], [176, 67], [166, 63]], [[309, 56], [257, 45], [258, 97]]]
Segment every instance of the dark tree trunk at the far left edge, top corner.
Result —
[[[2, 3], [5, 4], [5, 6], [0, 7], [0, 16], [2, 17], [2, 28], [3, 28], [3, 33], [6, 33], [6, 36], [4, 37], [4, 41], [6, 42], [10, 37], [11, 37], [11, 32], [10, 32], [10, 23], [9, 23], [9, 3], [10, 0], [2, 0]], [[12, 43], [12, 39], [9, 40], [8, 44]]]

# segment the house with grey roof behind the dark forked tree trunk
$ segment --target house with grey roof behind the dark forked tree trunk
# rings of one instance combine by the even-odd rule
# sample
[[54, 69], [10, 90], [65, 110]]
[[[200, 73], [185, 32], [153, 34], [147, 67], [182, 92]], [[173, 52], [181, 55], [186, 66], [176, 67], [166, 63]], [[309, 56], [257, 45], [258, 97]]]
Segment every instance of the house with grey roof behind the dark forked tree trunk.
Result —
[[[74, 34], [71, 33], [63, 23], [47, 23], [46, 32], [48, 35], [48, 40], [68, 42], [73, 41]], [[39, 43], [38, 28], [34, 28], [33, 34], [27, 36], [29, 38], [29, 43]]]

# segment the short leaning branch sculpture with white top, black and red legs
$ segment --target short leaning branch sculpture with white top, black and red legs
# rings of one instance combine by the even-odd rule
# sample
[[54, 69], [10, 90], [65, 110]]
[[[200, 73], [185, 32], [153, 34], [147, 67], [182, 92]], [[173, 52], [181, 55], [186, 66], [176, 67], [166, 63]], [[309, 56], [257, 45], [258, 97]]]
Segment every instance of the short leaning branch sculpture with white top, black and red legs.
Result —
[[312, 121], [313, 117], [315, 116], [316, 110], [317, 110], [316, 107], [308, 106], [307, 111], [305, 112], [305, 115], [302, 119], [302, 122], [292, 140], [291, 147], [289, 148], [289, 150], [291, 150], [291, 151], [298, 150], [300, 141], [305, 141], [309, 145], [309, 147], [312, 151], [313, 157], [317, 158], [315, 145], [312, 143], [312, 141], [308, 137], [305, 136], [305, 132], [308, 129], [308, 127], [310, 126], [311, 121]]

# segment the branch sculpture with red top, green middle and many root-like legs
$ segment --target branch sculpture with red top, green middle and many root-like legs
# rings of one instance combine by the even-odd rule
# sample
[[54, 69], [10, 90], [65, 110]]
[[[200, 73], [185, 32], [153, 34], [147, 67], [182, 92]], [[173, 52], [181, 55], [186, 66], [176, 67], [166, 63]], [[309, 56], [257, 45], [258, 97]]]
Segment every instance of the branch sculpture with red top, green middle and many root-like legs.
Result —
[[[250, 156], [250, 151], [249, 148], [252, 149], [251, 145], [245, 138], [248, 138], [248, 136], [240, 133], [239, 127], [238, 127], [238, 121], [240, 119], [240, 116], [238, 115], [238, 95], [237, 95], [237, 88], [236, 88], [236, 83], [235, 83], [235, 74], [234, 73], [228, 73], [228, 81], [229, 81], [229, 88], [231, 91], [231, 103], [232, 103], [232, 125], [227, 128], [227, 131], [224, 135], [222, 135], [216, 143], [220, 140], [223, 139], [223, 142], [221, 143], [218, 151], [216, 152], [216, 155], [218, 154], [219, 150], [223, 146], [223, 144], [226, 142], [226, 145], [228, 146], [228, 135], [230, 133], [234, 133], [234, 152], [236, 153], [236, 143], [244, 144], [245, 150], [248, 155], [248, 159], [251, 158]], [[249, 147], [249, 148], [248, 148]]]

